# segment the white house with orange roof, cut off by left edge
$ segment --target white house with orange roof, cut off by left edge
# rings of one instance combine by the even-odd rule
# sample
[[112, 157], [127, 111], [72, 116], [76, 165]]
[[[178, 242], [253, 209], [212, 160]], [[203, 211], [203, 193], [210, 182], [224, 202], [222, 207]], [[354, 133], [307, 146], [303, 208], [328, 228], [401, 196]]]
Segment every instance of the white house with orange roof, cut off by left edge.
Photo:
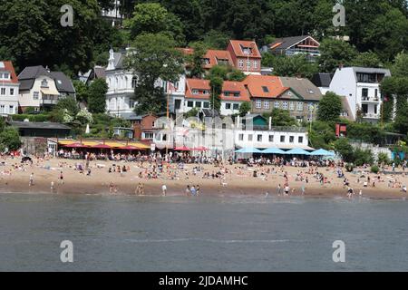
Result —
[[0, 61], [0, 116], [18, 113], [19, 86], [13, 63]]

